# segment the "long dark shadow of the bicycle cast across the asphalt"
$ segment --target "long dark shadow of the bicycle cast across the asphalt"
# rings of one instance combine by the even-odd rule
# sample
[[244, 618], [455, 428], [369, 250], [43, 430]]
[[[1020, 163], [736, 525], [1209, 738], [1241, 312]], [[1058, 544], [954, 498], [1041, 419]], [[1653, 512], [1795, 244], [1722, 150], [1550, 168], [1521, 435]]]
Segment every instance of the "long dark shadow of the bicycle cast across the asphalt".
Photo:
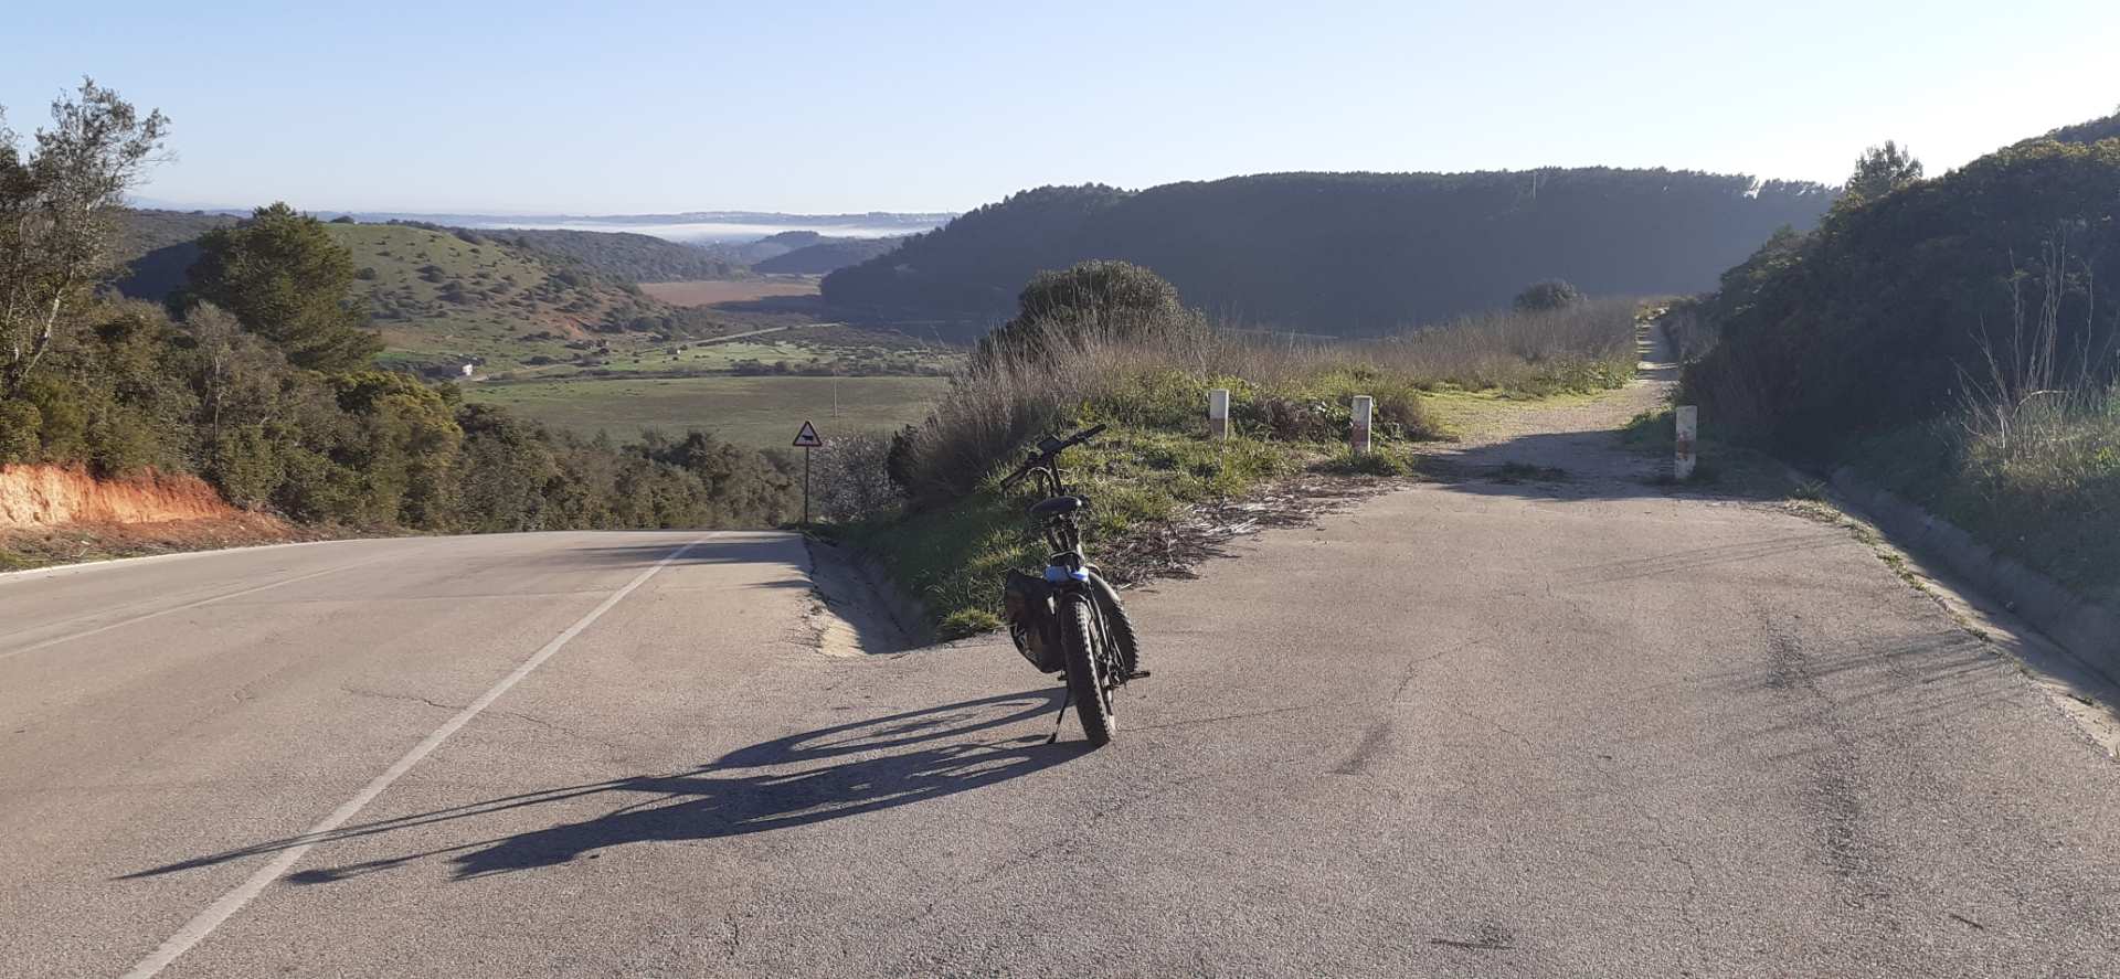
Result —
[[[153, 867], [121, 879], [157, 877], [299, 846], [324, 848], [416, 826], [479, 820], [591, 797], [621, 801], [587, 820], [411, 854], [316, 867], [286, 879], [290, 884], [331, 884], [441, 856], [454, 865], [456, 879], [471, 879], [553, 867], [628, 843], [700, 841], [808, 826], [986, 788], [1085, 754], [1090, 750], [1085, 742], [1045, 744], [1045, 735], [999, 742], [967, 740], [979, 731], [1052, 716], [1058, 710], [1058, 699], [1060, 691], [1049, 689], [912, 710], [753, 744], [676, 776], [634, 776], [488, 799], [341, 826], [331, 833], [276, 839]], [[861, 756], [831, 761], [848, 754]]]

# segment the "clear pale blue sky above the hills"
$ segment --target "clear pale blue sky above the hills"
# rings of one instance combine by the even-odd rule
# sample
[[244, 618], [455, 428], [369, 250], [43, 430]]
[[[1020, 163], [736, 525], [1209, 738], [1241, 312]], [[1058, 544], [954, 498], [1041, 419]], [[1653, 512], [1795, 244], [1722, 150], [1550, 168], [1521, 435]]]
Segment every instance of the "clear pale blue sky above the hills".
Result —
[[2120, 2], [106, 2], [8, 13], [15, 129], [91, 74], [142, 193], [307, 210], [962, 210], [1274, 170], [1931, 172], [2120, 104]]

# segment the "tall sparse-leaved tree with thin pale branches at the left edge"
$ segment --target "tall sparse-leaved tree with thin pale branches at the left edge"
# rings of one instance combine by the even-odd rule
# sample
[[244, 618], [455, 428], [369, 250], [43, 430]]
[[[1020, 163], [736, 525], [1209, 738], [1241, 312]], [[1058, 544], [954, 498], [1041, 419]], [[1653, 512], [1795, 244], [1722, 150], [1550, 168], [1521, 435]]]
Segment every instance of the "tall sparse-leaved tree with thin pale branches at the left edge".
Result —
[[170, 121], [142, 117], [83, 78], [51, 104], [51, 129], [23, 153], [0, 114], [0, 396], [19, 394], [91, 299], [110, 212], [155, 163]]

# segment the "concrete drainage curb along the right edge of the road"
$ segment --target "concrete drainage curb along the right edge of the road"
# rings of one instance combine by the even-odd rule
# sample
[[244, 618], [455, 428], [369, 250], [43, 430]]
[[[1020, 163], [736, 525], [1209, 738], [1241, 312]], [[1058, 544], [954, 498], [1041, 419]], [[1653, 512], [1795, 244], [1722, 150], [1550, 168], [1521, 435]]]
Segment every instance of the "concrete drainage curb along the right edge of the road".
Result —
[[2014, 615], [2084, 665], [2120, 682], [2120, 608], [2078, 595], [2059, 581], [1995, 553], [1955, 523], [1872, 485], [1849, 466], [1836, 468], [1832, 481], [1842, 498], [1891, 536], [1891, 542], [1942, 562], [1976, 589], [2008, 602]]

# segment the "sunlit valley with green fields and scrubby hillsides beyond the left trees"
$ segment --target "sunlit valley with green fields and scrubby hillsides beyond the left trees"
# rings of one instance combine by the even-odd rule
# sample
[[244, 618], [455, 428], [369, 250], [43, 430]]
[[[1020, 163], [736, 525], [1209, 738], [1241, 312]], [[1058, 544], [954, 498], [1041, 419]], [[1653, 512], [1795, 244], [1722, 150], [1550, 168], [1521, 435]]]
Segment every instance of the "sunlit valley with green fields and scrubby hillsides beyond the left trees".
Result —
[[[131, 275], [121, 290], [170, 297], [197, 261], [195, 239], [235, 222], [129, 212], [119, 252]], [[471, 403], [583, 439], [706, 428], [772, 449], [801, 417], [840, 417], [840, 430], [897, 428], [918, 422], [962, 362], [958, 348], [831, 322], [816, 275], [761, 275], [729, 259], [844, 242], [814, 233], [782, 233], [744, 252], [630, 231], [350, 218], [324, 231], [358, 269], [348, 299], [386, 345], [379, 367], [458, 381]]]

